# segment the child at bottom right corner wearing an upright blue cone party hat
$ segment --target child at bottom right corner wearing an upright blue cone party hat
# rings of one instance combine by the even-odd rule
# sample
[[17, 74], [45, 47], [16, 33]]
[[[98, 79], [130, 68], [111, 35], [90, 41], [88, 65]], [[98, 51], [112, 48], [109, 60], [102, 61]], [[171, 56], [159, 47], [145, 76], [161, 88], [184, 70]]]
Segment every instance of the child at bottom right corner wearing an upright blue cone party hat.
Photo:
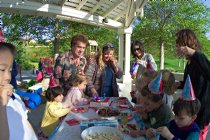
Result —
[[175, 119], [169, 123], [168, 128], [159, 127], [156, 131], [168, 140], [198, 140], [200, 129], [194, 121], [200, 106], [188, 75], [182, 95], [174, 104]]

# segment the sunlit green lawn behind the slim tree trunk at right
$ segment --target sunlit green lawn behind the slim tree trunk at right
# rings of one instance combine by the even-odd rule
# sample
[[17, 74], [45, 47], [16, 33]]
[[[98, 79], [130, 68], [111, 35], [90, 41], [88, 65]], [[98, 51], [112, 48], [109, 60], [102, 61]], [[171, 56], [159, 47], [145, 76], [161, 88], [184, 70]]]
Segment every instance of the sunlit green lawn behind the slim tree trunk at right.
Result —
[[[179, 61], [180, 61], [180, 67], [179, 67]], [[170, 69], [173, 72], [184, 72], [186, 62], [187, 62], [186, 60], [183, 61], [177, 58], [174, 58], [174, 59], [167, 58], [165, 59], [165, 62], [164, 62], [164, 68]], [[158, 68], [160, 68], [160, 61], [158, 59], [156, 59], [156, 63], [158, 65]]]

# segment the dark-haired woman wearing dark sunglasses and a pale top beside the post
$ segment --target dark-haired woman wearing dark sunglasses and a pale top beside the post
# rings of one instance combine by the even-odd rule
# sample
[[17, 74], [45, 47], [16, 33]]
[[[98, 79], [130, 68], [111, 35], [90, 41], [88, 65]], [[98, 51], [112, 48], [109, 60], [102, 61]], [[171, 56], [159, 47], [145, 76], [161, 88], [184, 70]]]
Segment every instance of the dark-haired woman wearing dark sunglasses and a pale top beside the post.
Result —
[[157, 70], [157, 65], [153, 56], [149, 53], [145, 53], [144, 46], [140, 41], [135, 41], [131, 44], [131, 54], [134, 57], [130, 71], [132, 78], [136, 78], [139, 66], [143, 66], [150, 70]]

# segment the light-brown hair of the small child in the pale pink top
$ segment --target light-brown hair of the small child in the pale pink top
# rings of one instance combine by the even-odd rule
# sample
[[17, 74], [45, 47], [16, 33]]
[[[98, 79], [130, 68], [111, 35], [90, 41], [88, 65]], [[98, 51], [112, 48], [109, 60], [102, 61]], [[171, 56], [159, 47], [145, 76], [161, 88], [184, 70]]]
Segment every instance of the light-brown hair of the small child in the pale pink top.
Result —
[[88, 82], [88, 77], [85, 75], [72, 74], [69, 77], [69, 84], [73, 87], [80, 85], [82, 82]]

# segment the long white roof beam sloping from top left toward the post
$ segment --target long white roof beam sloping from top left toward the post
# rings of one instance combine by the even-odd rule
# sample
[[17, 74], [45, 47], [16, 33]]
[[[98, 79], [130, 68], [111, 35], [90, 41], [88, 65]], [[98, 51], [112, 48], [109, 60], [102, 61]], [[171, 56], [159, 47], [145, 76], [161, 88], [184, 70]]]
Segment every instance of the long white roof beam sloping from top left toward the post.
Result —
[[[18, 3], [18, 4], [17, 4]], [[42, 4], [33, 1], [25, 1], [22, 3], [22, 0], [17, 0], [14, 3], [13, 0], [1, 0], [0, 9], [5, 9], [8, 11], [19, 10], [20, 13], [38, 12], [42, 13], [43, 16], [51, 15], [53, 17], [64, 17], [68, 20], [74, 20], [77, 22], [83, 22], [86, 24], [100, 25], [111, 28], [122, 28], [124, 25], [120, 22], [108, 19], [108, 23], [103, 23], [102, 20], [104, 17], [96, 16], [88, 12], [80, 11], [70, 7], [60, 7], [53, 4]]]

